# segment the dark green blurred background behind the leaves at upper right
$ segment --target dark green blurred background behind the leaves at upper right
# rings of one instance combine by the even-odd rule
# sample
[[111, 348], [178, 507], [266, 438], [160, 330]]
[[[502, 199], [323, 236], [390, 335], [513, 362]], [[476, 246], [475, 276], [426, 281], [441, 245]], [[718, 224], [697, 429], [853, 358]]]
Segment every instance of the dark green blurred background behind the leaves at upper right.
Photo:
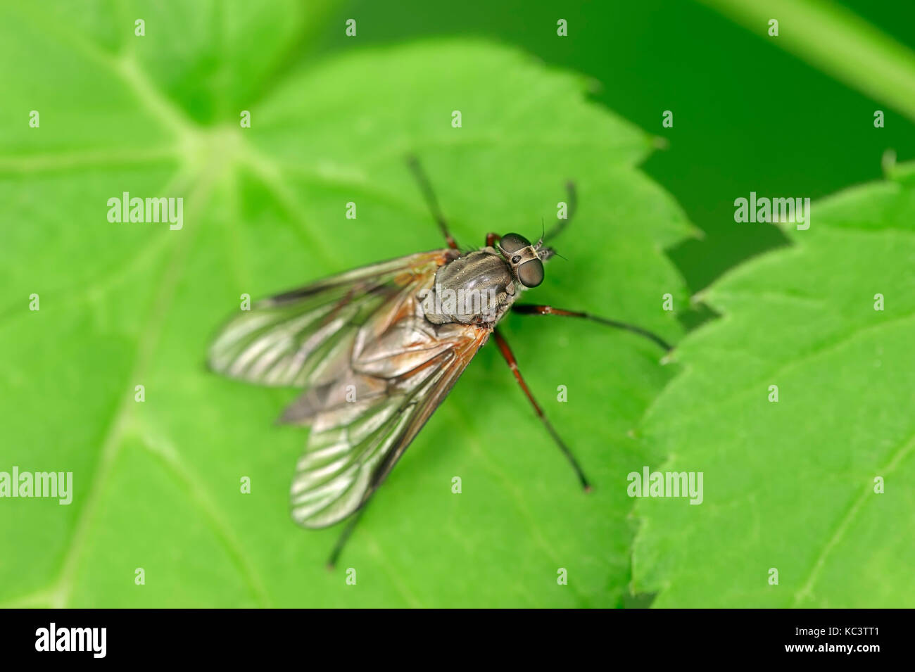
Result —
[[[836, 4], [915, 45], [915, 3]], [[756, 191], [815, 199], [881, 176], [888, 148], [899, 161], [915, 155], [915, 125], [905, 116], [786, 53], [764, 26], [753, 35], [691, 0], [364, 0], [344, 3], [337, 23], [349, 16], [359, 17], [360, 39], [369, 44], [479, 35], [593, 77], [595, 101], [670, 141], [642, 168], [705, 231], [705, 240], [670, 251], [693, 292], [784, 244], [777, 229], [736, 225], [735, 198]], [[554, 38], [557, 17], [569, 22], [566, 39]], [[348, 48], [342, 31], [329, 30], [320, 53]], [[878, 109], [886, 113], [882, 129], [872, 123]], [[662, 128], [664, 110], [673, 111], [673, 128]]]

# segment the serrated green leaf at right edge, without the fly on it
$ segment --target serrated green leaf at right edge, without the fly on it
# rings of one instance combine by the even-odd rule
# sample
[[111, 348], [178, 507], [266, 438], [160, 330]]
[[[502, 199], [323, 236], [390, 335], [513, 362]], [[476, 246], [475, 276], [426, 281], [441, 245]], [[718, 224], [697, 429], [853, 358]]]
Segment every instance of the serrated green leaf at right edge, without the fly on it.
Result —
[[911, 170], [813, 203], [790, 248], [705, 294], [722, 317], [677, 347], [641, 430], [663, 470], [704, 474], [699, 506], [636, 507], [655, 605], [915, 605]]

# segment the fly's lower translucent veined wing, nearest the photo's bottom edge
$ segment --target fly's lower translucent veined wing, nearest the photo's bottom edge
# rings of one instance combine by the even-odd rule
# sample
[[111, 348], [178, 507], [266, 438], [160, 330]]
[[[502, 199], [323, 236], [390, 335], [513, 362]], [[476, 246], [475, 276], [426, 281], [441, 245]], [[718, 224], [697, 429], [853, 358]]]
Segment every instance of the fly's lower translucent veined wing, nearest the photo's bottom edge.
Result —
[[304, 409], [312, 425], [290, 493], [296, 522], [324, 528], [359, 509], [489, 336], [483, 327], [403, 317], [364, 350], [357, 343], [343, 376], [296, 401], [286, 416], [295, 421]]

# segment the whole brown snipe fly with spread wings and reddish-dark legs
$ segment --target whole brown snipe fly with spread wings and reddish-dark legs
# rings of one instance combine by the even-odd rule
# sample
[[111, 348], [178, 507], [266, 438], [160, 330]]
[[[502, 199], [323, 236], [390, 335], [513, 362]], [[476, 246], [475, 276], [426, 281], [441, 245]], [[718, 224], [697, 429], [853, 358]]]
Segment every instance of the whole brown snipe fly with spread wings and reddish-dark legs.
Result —
[[359, 513], [490, 336], [579, 483], [590, 488], [497, 327], [509, 311], [593, 320], [670, 349], [637, 326], [515, 303], [544, 281], [544, 263], [555, 254], [546, 243], [565, 229], [576, 209], [573, 183], [566, 185], [567, 217], [536, 243], [517, 233], [490, 233], [479, 250], [462, 252], [419, 163], [411, 157], [408, 165], [447, 248], [382, 261], [265, 299], [232, 318], [210, 347], [210, 368], [218, 373], [304, 389], [279, 420], [311, 427], [292, 482], [292, 517], [305, 528], [326, 528], [350, 517], [330, 566]]

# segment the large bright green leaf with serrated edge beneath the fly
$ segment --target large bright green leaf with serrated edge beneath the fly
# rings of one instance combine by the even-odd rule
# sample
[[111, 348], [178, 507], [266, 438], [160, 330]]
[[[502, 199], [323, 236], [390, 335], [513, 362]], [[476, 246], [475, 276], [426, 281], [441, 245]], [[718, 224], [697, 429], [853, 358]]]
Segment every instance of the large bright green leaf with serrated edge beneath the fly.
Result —
[[[0, 601], [618, 604], [633, 529], [616, 474], [640, 454], [627, 432], [669, 376], [651, 343], [511, 316], [522, 370], [595, 492], [578, 490], [485, 347], [372, 500], [335, 572], [324, 561], [339, 529], [302, 530], [288, 516], [306, 434], [273, 421], [295, 390], [245, 386], [203, 364], [242, 293], [256, 299], [442, 246], [408, 151], [464, 245], [490, 230], [536, 237], [575, 178], [580, 210], [558, 242], [565, 260], [551, 261], [530, 300], [676, 340], [662, 295], [683, 305], [685, 289], [663, 250], [691, 229], [635, 167], [651, 138], [589, 103], [582, 78], [510, 48], [362, 51], [354, 38], [352, 53], [284, 69], [315, 28], [292, 3], [258, 3], [254, 14], [242, 2], [182, 4], [178, 14], [156, 5], [0, 10], [11, 73], [0, 110], [0, 471], [70, 471], [74, 484], [70, 506], [0, 501]], [[134, 35], [136, 17], [145, 37]], [[251, 128], [240, 127], [242, 110]], [[110, 223], [107, 200], [125, 191], [184, 197], [183, 228]], [[350, 201], [357, 219], [345, 218]], [[557, 585], [560, 568], [568, 585]]]

